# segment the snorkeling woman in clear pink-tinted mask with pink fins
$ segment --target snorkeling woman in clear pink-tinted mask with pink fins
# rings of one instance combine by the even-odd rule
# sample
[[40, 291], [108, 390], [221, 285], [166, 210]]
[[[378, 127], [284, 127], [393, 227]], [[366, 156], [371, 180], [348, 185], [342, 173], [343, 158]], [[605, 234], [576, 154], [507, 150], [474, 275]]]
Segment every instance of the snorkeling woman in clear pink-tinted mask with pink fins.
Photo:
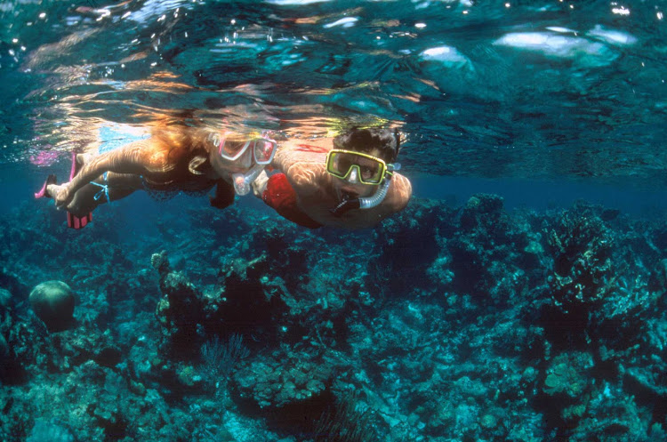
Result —
[[99, 155], [72, 157], [69, 182], [49, 175], [35, 197], [52, 197], [68, 212], [68, 226], [83, 228], [98, 205], [144, 189], [160, 199], [176, 192], [206, 193], [215, 186], [211, 205], [225, 208], [245, 195], [269, 165], [276, 141], [242, 137], [193, 127], [154, 129], [147, 140], [134, 141]]

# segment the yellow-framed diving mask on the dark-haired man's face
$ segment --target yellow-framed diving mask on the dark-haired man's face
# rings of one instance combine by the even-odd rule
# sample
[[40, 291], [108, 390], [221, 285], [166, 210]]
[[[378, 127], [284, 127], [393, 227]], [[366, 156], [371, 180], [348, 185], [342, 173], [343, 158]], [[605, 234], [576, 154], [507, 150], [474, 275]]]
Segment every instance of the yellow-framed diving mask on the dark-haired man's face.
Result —
[[[352, 173], [356, 171], [356, 173]], [[348, 180], [350, 175], [363, 184], [380, 184], [387, 171], [382, 159], [348, 150], [331, 150], [326, 157], [326, 172]]]

